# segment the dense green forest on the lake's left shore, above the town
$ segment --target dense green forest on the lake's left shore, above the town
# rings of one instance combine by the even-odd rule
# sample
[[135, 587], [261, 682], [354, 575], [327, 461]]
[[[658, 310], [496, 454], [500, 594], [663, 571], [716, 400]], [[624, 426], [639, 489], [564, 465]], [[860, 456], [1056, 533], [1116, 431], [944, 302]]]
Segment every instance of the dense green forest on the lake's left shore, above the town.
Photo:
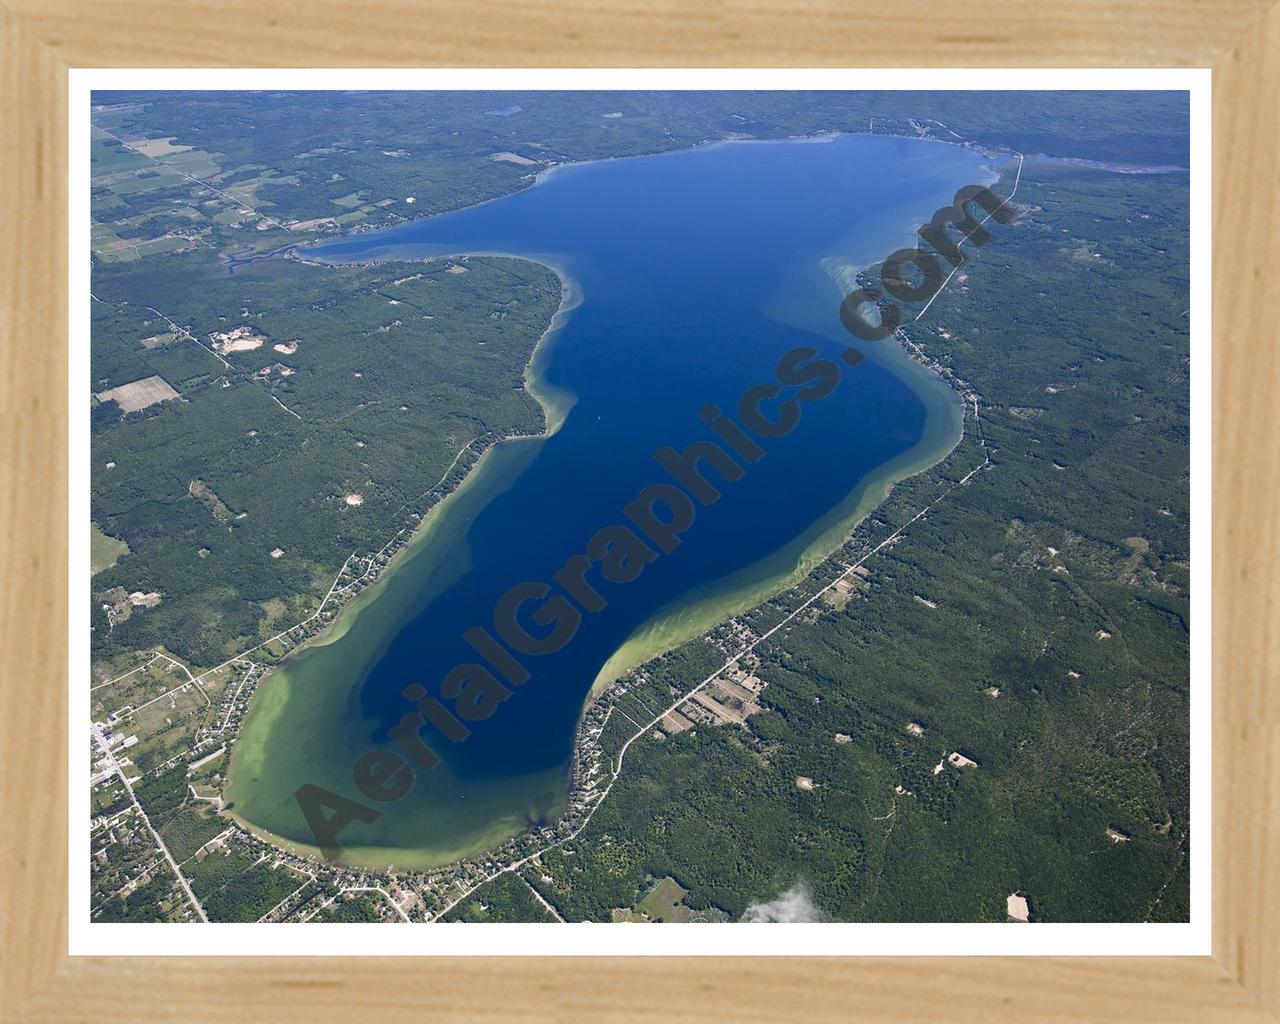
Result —
[[[111, 621], [100, 596], [100, 657], [163, 644], [209, 667], [292, 626], [347, 556], [421, 511], [465, 444], [543, 425], [522, 374], [561, 287], [536, 264], [228, 275], [183, 253], [101, 268], [93, 288], [92, 389], [157, 374], [180, 396], [95, 410], [93, 521], [129, 553], [93, 590], [161, 595]], [[239, 326], [257, 348], [224, 362], [202, 347]]]

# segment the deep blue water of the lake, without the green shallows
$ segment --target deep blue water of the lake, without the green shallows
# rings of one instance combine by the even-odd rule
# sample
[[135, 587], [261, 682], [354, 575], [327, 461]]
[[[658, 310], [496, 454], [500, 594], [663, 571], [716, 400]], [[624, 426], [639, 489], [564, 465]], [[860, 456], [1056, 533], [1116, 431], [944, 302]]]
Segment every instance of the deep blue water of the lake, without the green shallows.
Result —
[[[312, 248], [307, 255], [329, 261], [530, 255], [553, 262], [581, 300], [540, 361], [545, 381], [576, 402], [554, 435], [518, 442], [518, 454], [497, 462], [515, 479], [481, 488], [465, 503], [465, 522], [428, 541], [448, 550], [422, 571], [420, 599], [384, 623], [361, 677], [342, 684], [349, 686], [342, 728], [361, 733], [347, 736], [348, 749], [394, 746], [385, 730], [410, 709], [406, 685], [439, 695], [448, 669], [476, 660], [462, 632], [492, 631], [494, 603], [509, 586], [550, 581], [596, 530], [625, 522], [622, 509], [641, 488], [669, 483], [653, 453], [713, 438], [700, 408], [733, 410], [744, 390], [773, 381], [780, 357], [797, 346], [838, 361], [852, 339], [840, 328], [842, 288], [823, 270], [824, 257], [882, 257], [957, 188], [988, 177], [980, 156], [938, 143], [723, 145], [563, 168], [495, 202]], [[593, 680], [658, 609], [794, 548], [860, 481], [916, 445], [927, 426], [919, 385], [913, 390], [901, 358], [886, 358], [877, 344], [891, 342], [863, 343], [869, 357], [841, 367], [833, 394], [804, 403], [788, 436], [762, 439], [767, 456], [741, 480], [708, 475], [723, 498], [698, 508], [673, 553], [634, 582], [608, 584], [594, 570], [589, 579], [608, 607], [585, 614], [559, 653], [521, 655], [532, 678], [492, 717], [468, 723], [470, 739], [454, 744], [424, 730], [445, 765], [420, 773], [403, 810], [385, 805], [379, 823], [355, 826], [361, 845], [456, 845], [480, 835], [484, 823], [458, 801], [486, 794], [493, 804], [507, 782], [516, 794], [520, 778], [564, 773]], [[529, 632], [547, 632], [525, 618]], [[349, 762], [343, 771], [342, 791], [356, 795]]]

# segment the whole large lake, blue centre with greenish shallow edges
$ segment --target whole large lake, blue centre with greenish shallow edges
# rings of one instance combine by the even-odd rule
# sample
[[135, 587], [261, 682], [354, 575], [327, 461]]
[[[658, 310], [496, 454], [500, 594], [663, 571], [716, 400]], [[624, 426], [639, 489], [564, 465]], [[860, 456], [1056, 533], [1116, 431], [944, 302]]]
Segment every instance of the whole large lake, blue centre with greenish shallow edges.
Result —
[[[237, 745], [237, 813], [310, 841], [293, 791], [358, 796], [351, 767], [396, 746], [385, 733], [410, 709], [403, 687], [438, 692], [448, 669], [475, 660], [462, 632], [490, 626], [499, 595], [550, 580], [596, 530], [623, 522], [641, 488], [669, 481], [653, 452], [712, 438], [700, 408], [733, 410], [797, 346], [838, 361], [852, 342], [837, 316], [851, 273], [910, 243], [961, 186], [991, 180], [988, 163], [867, 136], [722, 143], [559, 168], [494, 202], [310, 250], [335, 262], [500, 252], [553, 265], [572, 302], [534, 383], [563, 421], [490, 452], [328, 641], [264, 685]], [[611, 658], [632, 663], [759, 599], [888, 481], [945, 454], [956, 396], [891, 340], [860, 348], [865, 361], [842, 367], [835, 393], [805, 403], [790, 435], [762, 440], [768, 454], [699, 507], [677, 550], [634, 582], [596, 575], [608, 607], [559, 653], [524, 657], [532, 678], [470, 723], [470, 739], [424, 730], [444, 764], [344, 832], [349, 855], [439, 863], [554, 817], [584, 701]]]

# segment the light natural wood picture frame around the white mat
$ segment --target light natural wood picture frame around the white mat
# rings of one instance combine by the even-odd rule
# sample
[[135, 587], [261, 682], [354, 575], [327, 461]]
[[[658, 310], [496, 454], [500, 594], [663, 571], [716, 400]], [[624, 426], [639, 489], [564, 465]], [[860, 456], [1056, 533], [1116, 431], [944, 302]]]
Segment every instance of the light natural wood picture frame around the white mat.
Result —
[[[1280, 1020], [1280, 6], [1271, 3], [0, 0], [4, 1020]], [[301, 64], [1212, 67], [1213, 955], [69, 957], [67, 72]]]

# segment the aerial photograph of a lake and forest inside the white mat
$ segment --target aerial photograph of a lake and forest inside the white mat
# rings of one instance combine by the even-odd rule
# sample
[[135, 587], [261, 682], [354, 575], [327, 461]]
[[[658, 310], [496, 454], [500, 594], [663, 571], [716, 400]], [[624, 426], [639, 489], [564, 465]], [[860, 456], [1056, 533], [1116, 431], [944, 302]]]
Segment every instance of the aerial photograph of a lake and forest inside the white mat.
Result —
[[91, 923], [1190, 919], [1187, 91], [88, 132]]

